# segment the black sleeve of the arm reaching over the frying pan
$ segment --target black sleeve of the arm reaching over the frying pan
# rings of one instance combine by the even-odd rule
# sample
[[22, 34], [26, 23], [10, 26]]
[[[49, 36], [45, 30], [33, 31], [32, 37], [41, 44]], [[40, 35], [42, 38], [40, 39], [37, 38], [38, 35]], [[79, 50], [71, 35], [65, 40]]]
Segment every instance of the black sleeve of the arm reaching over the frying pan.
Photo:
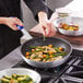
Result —
[[32, 12], [34, 14], [34, 17], [36, 20], [38, 20], [37, 14], [38, 14], [39, 11], [44, 11], [48, 14], [48, 8], [43, 0], [24, 0], [24, 2], [32, 10]]

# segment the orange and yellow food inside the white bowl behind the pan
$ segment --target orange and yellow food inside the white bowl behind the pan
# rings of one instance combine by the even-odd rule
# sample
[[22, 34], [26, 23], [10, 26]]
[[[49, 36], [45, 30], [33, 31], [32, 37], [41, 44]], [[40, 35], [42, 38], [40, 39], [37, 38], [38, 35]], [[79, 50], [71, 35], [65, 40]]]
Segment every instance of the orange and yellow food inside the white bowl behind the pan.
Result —
[[59, 24], [60, 28], [67, 29], [67, 31], [79, 31], [79, 25], [78, 24], [66, 24], [66, 23], [60, 23]]

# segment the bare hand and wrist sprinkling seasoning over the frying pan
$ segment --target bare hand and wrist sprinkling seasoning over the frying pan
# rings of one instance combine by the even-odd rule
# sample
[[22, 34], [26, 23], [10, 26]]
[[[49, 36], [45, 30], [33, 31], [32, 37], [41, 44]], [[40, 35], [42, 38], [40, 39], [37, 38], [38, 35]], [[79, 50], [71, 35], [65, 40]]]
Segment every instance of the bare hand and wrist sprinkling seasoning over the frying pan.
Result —
[[39, 16], [39, 26], [43, 29], [42, 32], [43, 35], [48, 37], [54, 36], [56, 34], [56, 29], [52, 23], [47, 20], [47, 14], [40, 12], [38, 16]]

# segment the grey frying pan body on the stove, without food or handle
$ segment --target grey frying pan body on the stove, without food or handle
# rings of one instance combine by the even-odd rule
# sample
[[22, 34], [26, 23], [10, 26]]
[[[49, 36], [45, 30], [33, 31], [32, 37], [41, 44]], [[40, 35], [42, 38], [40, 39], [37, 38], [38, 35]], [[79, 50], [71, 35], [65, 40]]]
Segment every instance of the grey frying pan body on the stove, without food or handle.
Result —
[[[45, 46], [45, 45], [54, 45], [56, 47], [63, 47], [67, 55], [62, 59], [55, 60], [51, 62], [33, 61], [31, 59], [25, 58], [25, 54], [29, 51], [31, 46]], [[43, 37], [32, 38], [29, 40], [26, 40], [21, 47], [22, 58], [26, 61], [26, 63], [36, 68], [58, 67], [69, 59], [71, 52], [72, 52], [72, 46], [70, 45], [70, 43], [57, 37], [46, 37], [45, 40]]]

